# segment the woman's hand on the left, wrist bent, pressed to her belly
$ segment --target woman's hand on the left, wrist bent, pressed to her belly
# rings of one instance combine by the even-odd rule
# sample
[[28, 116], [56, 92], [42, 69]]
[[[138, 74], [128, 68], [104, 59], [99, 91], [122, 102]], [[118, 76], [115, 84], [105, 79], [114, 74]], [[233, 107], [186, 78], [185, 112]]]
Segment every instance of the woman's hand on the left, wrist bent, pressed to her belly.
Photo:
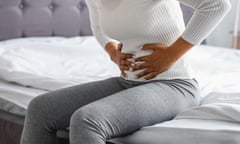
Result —
[[127, 59], [133, 58], [134, 55], [130, 53], [122, 53], [122, 43], [108, 42], [105, 49], [110, 55], [111, 60], [119, 66], [121, 75], [127, 77], [125, 70], [129, 70], [131, 64], [133, 64], [133, 62], [128, 61]]

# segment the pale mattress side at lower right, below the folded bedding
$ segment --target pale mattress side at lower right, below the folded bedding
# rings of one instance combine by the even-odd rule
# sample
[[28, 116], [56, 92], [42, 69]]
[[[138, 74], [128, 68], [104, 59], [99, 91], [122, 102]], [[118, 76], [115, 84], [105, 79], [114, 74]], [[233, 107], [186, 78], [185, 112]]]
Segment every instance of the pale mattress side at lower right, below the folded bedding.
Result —
[[239, 144], [240, 123], [179, 119], [144, 127], [115, 144]]

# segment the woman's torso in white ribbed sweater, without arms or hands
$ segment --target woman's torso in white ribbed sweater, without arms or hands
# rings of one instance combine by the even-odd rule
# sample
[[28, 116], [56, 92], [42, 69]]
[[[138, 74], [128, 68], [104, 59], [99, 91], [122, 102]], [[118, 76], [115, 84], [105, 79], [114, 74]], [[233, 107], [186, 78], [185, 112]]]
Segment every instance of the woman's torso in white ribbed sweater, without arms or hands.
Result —
[[[136, 57], [151, 51], [140, 50], [146, 43], [171, 45], [184, 31], [182, 11], [176, 0], [99, 0], [99, 19], [105, 34], [123, 43], [122, 52]], [[184, 57], [155, 79], [190, 78]], [[130, 72], [128, 80], [135, 79]]]

